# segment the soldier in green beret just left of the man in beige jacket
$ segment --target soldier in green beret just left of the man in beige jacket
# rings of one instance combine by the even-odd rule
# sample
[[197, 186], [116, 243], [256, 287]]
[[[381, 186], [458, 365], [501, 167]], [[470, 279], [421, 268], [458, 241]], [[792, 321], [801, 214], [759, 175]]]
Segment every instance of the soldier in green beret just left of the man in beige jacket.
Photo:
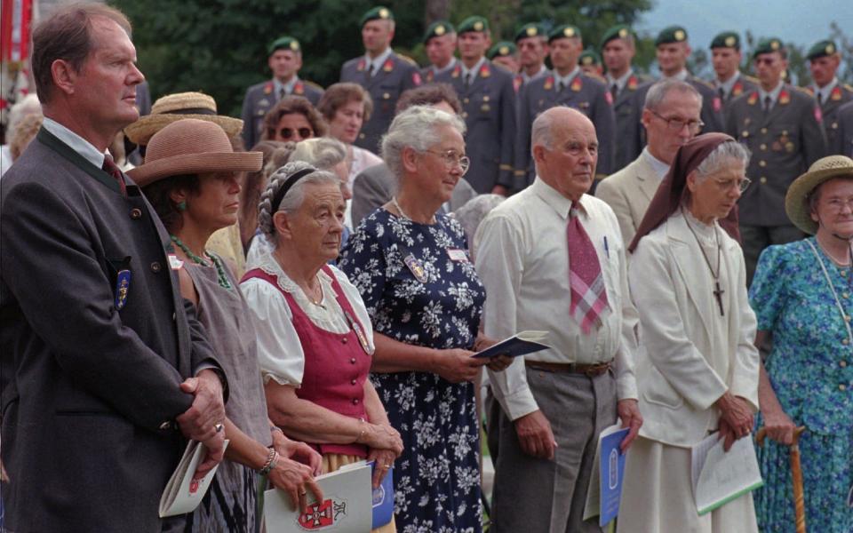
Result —
[[[649, 76], [634, 72], [631, 62], [634, 60], [634, 32], [625, 24], [608, 28], [602, 37], [602, 56], [607, 68], [605, 80], [610, 97], [613, 99], [613, 112], [616, 114], [616, 138], [630, 139], [637, 130], [642, 115], [642, 100], [634, 99], [634, 93], [651, 81]], [[614, 171], [631, 163], [630, 152], [625, 142], [616, 143]]]

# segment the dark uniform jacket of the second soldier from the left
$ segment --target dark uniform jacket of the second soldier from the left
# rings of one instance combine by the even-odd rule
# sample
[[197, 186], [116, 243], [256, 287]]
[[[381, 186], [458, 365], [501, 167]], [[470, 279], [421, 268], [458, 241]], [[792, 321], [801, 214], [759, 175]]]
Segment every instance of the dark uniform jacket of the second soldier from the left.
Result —
[[[387, 54], [387, 55], [386, 55]], [[359, 56], [348, 60], [340, 69], [340, 81], [361, 85], [371, 95], [373, 113], [362, 126], [355, 146], [379, 153], [379, 139], [388, 131], [394, 118], [397, 99], [403, 91], [420, 85], [420, 70], [414, 61], [395, 54], [390, 48], [379, 55], [381, 62]]]

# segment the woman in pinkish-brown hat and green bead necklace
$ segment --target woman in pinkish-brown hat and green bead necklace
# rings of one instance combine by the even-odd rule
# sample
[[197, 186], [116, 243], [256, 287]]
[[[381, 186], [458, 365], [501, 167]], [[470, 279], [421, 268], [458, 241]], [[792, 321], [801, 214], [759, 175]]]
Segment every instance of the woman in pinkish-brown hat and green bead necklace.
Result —
[[306, 487], [319, 494], [312, 474], [320, 465], [312, 449], [270, 424], [251, 314], [227, 265], [205, 250], [214, 231], [234, 224], [239, 172], [259, 170], [261, 154], [235, 153], [219, 125], [197, 119], [173, 122], [150, 141], [146, 162], [129, 175], [171, 235], [171, 269], [182, 296], [195, 304], [230, 386], [226, 460], [187, 530], [254, 531], [258, 474], [287, 490], [294, 505], [301, 500], [301, 508]]

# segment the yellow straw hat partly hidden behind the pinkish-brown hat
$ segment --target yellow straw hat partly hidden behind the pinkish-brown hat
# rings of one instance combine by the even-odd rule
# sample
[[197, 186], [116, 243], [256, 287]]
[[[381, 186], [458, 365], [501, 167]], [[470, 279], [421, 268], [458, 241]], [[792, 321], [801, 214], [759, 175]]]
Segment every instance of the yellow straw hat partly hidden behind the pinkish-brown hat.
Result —
[[158, 98], [151, 106], [151, 114], [124, 128], [124, 135], [131, 142], [147, 145], [157, 131], [183, 118], [197, 118], [219, 124], [228, 134], [235, 137], [243, 130], [239, 118], [216, 114], [216, 100], [203, 92], [176, 92]]

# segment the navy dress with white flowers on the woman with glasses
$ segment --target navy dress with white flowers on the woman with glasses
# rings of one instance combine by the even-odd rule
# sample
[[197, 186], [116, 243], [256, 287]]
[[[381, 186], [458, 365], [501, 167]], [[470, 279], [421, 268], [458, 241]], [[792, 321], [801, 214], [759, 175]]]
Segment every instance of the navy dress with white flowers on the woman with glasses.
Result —
[[[485, 290], [466, 250], [454, 219], [437, 215], [433, 225], [418, 224], [379, 209], [350, 236], [340, 268], [378, 333], [411, 345], [470, 349]], [[371, 381], [405, 446], [394, 470], [397, 530], [480, 531], [474, 386], [429, 372], [372, 374]]]

